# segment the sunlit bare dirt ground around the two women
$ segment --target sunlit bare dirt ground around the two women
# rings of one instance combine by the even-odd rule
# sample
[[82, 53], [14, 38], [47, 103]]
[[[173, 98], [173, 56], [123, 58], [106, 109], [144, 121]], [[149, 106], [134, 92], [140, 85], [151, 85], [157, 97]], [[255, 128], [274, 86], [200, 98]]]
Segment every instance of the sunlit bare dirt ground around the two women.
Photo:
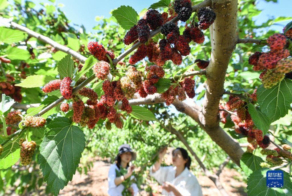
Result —
[[[108, 196], [107, 194], [107, 174], [110, 163], [107, 160], [97, 160], [93, 164], [91, 171], [87, 175], [80, 175], [78, 172], [73, 176], [72, 181], [60, 190], [59, 196]], [[197, 176], [202, 187], [204, 196], [221, 196], [214, 183], [206, 176]], [[240, 174], [233, 170], [224, 168], [220, 174], [220, 182], [230, 196], [246, 196], [246, 184], [236, 179], [240, 179]], [[141, 191], [140, 195], [150, 195]]]

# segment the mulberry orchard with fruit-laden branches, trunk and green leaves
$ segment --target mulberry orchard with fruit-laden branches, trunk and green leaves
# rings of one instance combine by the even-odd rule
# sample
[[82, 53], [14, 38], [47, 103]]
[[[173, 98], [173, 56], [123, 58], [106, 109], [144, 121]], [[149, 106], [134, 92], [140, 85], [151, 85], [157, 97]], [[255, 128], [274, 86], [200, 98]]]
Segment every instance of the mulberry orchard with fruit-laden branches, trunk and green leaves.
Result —
[[223, 196], [223, 167], [248, 196], [292, 195], [291, 17], [256, 25], [255, 0], [161, 0], [91, 33], [53, 3], [0, 2], [0, 194], [58, 195], [129, 143], [147, 192], [159, 149], [181, 146]]

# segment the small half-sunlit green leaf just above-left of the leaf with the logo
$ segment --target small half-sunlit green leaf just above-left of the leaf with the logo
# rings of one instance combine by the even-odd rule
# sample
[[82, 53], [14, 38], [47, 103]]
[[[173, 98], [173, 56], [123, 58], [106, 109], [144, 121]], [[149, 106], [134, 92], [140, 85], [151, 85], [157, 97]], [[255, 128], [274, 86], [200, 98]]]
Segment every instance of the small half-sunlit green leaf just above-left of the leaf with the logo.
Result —
[[255, 156], [251, 153], [243, 153], [240, 159], [240, 167], [246, 176], [249, 176], [251, 173], [261, 168], [261, 162], [264, 162], [261, 157]]

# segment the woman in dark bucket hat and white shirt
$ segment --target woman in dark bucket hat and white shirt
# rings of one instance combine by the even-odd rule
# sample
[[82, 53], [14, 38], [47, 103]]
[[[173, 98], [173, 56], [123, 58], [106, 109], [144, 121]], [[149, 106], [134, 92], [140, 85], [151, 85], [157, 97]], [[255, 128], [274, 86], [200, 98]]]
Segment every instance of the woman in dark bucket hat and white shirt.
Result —
[[[125, 186], [122, 184], [126, 179], [132, 180], [134, 176], [133, 174], [134, 166], [129, 166], [129, 162], [136, 159], [136, 153], [134, 153], [128, 144], [123, 144], [119, 147], [119, 153], [115, 159], [116, 164], [112, 164], [109, 168], [108, 182], [109, 182], [109, 190], [108, 194], [110, 196], [122, 196], [125, 194], [125, 191], [129, 191], [131, 195], [137, 195], [138, 187], [137, 184], [132, 183], [129, 188], [125, 189]], [[125, 169], [127, 169], [126, 172]], [[124, 190], [125, 189], [125, 190]]]

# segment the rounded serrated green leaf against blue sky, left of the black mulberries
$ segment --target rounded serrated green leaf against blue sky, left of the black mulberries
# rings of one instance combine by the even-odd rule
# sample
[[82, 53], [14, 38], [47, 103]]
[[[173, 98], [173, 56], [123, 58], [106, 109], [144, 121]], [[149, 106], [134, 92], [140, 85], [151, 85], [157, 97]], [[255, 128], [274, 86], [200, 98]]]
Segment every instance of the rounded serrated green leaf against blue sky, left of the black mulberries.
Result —
[[112, 16], [117, 19], [117, 22], [123, 29], [131, 29], [138, 22], [139, 15], [130, 6], [121, 6], [112, 11]]

